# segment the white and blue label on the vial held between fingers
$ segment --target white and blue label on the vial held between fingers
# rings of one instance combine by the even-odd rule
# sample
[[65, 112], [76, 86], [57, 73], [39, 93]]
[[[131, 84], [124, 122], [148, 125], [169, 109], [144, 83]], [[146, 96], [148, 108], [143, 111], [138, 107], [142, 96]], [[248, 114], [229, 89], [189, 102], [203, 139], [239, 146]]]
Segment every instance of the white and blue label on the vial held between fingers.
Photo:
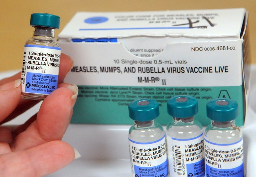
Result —
[[59, 47], [25, 45], [22, 92], [49, 95], [57, 89], [60, 52]]

